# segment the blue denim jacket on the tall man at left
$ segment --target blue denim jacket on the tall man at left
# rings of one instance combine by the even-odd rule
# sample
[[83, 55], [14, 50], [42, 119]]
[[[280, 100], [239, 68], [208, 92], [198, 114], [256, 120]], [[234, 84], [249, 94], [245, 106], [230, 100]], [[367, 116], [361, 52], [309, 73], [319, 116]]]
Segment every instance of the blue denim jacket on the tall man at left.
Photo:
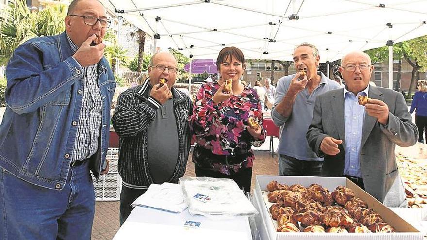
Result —
[[[6, 69], [0, 166], [25, 181], [56, 190], [66, 183], [83, 98], [83, 69], [71, 56], [65, 32], [33, 38], [16, 48]], [[116, 83], [105, 58], [97, 68], [102, 127], [89, 165], [98, 178], [108, 149]]]

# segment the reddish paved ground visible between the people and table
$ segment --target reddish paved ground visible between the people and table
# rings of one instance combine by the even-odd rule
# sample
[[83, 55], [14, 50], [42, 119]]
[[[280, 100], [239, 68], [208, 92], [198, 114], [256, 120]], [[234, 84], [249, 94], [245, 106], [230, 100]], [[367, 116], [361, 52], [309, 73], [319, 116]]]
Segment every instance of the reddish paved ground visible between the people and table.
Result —
[[[269, 142], [270, 138], [267, 137]], [[275, 139], [275, 146], [277, 147], [278, 142]], [[268, 151], [268, 144], [264, 144], [259, 149], [265, 150], [256, 150], [255, 157], [256, 161], [254, 162], [254, 168], [252, 173], [252, 188], [255, 183], [256, 175], [277, 175], [279, 169], [277, 154], [274, 157], [271, 157], [271, 153]], [[190, 158], [191, 159], [191, 156]], [[185, 176], [195, 176], [194, 175], [194, 165], [191, 160], [188, 161], [187, 171]], [[119, 229], [119, 202], [97, 202], [95, 204], [95, 219], [92, 227], [92, 240], [111, 240], [117, 230]]]

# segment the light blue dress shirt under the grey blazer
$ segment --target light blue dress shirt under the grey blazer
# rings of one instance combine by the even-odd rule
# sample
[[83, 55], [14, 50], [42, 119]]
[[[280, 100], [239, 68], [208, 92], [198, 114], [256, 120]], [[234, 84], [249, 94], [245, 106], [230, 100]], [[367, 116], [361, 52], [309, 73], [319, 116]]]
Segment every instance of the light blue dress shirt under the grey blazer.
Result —
[[360, 150], [365, 118], [365, 106], [358, 103], [358, 97], [368, 96], [369, 85], [362, 92], [349, 92], [344, 88], [344, 122], [345, 122], [345, 163], [344, 175], [362, 177], [360, 168]]

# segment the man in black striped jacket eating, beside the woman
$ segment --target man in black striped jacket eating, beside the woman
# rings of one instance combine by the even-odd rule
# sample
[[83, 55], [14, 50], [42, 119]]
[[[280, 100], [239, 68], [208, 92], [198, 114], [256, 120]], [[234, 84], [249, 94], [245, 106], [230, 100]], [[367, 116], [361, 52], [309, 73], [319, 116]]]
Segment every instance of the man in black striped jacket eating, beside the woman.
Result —
[[[112, 121], [120, 137], [120, 225], [131, 213], [131, 203], [151, 183], [178, 183], [184, 175], [193, 104], [173, 87], [177, 72], [177, 60], [171, 53], [156, 53], [150, 59], [149, 79], [118, 98]], [[162, 85], [160, 79], [167, 82]]]

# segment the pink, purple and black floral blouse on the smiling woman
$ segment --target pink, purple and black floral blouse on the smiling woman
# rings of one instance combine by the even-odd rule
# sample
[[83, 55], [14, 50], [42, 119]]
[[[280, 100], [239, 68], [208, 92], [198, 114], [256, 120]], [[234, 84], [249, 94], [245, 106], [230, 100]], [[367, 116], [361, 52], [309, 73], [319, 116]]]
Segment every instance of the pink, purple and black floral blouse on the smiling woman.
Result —
[[[259, 147], [265, 141], [263, 112], [256, 91], [248, 87], [215, 104], [212, 97], [219, 87], [217, 81], [205, 83], [197, 93], [190, 117], [196, 142], [193, 162], [202, 169], [230, 175], [253, 166], [251, 146]], [[257, 139], [245, 127], [251, 116], [262, 127]]]

